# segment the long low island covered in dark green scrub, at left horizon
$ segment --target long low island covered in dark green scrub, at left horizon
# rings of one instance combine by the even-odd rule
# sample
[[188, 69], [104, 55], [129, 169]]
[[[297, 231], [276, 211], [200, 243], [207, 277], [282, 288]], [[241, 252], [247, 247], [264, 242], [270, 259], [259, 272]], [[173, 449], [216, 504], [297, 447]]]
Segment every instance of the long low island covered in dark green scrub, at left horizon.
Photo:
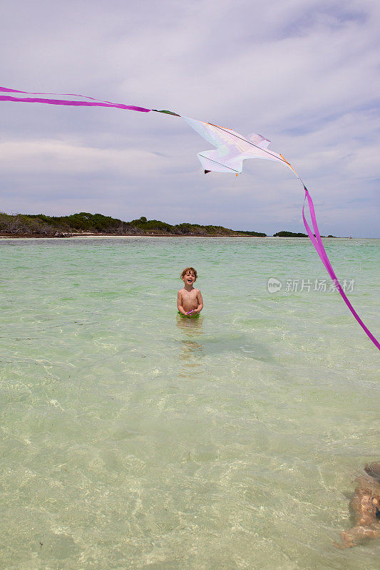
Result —
[[70, 216], [45, 214], [0, 213], [0, 237], [71, 237], [81, 235], [114, 236], [200, 236], [200, 237], [266, 237], [262, 232], [247, 232], [222, 226], [176, 224], [146, 219], [142, 216], [131, 222], [80, 212]]

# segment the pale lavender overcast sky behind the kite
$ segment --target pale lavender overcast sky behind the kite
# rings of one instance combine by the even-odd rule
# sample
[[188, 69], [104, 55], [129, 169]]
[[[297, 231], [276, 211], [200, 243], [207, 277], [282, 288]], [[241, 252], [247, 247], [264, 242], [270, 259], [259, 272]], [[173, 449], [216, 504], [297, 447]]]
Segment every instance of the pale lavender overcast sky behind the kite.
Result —
[[[169, 109], [272, 140], [323, 234], [379, 237], [376, 0], [20, 0], [0, 8], [1, 85]], [[280, 164], [203, 175], [183, 120], [0, 103], [4, 212], [100, 212], [303, 231]]]

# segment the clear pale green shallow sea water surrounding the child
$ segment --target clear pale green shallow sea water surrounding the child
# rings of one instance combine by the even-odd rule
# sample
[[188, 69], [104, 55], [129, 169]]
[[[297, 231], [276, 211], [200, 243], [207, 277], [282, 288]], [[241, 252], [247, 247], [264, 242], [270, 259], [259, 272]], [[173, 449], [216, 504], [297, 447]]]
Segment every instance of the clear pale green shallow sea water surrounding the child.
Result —
[[[326, 240], [375, 336], [379, 245]], [[314, 291], [308, 239], [2, 239], [0, 260], [1, 569], [379, 568], [380, 539], [333, 545], [380, 459], [379, 353]]]

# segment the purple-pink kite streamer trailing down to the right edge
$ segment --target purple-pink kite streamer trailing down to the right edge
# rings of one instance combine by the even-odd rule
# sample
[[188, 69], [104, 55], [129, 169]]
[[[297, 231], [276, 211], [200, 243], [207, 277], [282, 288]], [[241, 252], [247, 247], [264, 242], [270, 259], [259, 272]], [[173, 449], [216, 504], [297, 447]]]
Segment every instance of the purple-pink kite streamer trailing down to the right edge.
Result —
[[327, 257], [327, 253], [324, 249], [324, 244], [322, 243], [321, 235], [319, 234], [317, 217], [315, 216], [315, 210], [314, 210], [314, 204], [312, 201], [312, 197], [309, 195], [309, 192], [307, 191], [307, 187], [305, 185], [304, 185], [304, 191], [305, 191], [305, 202], [307, 200], [307, 203], [309, 205], [309, 212], [310, 212], [310, 217], [312, 218], [312, 225], [313, 225], [313, 229], [315, 232], [315, 236], [312, 233], [312, 230], [309, 228], [309, 224], [307, 223], [305, 215], [304, 215], [304, 207], [305, 207], [305, 202], [304, 202], [304, 207], [302, 208], [302, 218], [304, 219], [304, 227], [306, 228], [307, 234], [309, 235], [309, 238], [312, 240], [312, 244], [314, 245], [315, 249], [317, 250], [317, 254], [322, 259], [322, 263], [326, 267], [327, 273], [329, 274], [329, 276], [334, 281], [334, 284], [337, 287], [339, 294], [342, 296], [344, 303], [346, 304], [346, 306], [348, 306], [349, 310], [354, 315], [354, 318], [356, 318], [356, 321], [358, 321], [359, 325], [361, 326], [361, 328], [366, 333], [366, 336], [368, 336], [371, 339], [371, 341], [374, 343], [376, 348], [379, 348], [379, 351], [380, 351], [379, 341], [377, 341], [376, 338], [374, 337], [374, 335], [371, 333], [371, 331], [369, 331], [369, 329], [366, 328], [364, 322], [361, 320], [359, 315], [356, 313], [354, 307], [351, 305], [351, 303], [349, 302], [349, 299], [347, 298], [346, 294], [344, 293], [344, 291], [342, 289], [342, 285], [339, 283], [339, 280], [337, 279], [337, 276], [334, 273], [334, 269], [332, 269], [332, 264], [330, 263], [329, 258]]

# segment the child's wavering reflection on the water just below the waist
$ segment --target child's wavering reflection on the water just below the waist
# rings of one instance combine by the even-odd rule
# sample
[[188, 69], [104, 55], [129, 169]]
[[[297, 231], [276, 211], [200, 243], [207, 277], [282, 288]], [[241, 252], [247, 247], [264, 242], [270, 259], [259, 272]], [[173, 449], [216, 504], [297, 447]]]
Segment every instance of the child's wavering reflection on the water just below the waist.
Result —
[[[202, 328], [203, 318], [182, 318], [177, 315], [177, 326], [180, 328], [182, 338], [180, 341], [180, 361], [183, 361], [183, 372], [187, 371], [188, 365], [200, 366], [200, 360], [204, 356], [204, 346], [199, 341], [203, 334]], [[183, 373], [180, 373], [183, 375]]]

